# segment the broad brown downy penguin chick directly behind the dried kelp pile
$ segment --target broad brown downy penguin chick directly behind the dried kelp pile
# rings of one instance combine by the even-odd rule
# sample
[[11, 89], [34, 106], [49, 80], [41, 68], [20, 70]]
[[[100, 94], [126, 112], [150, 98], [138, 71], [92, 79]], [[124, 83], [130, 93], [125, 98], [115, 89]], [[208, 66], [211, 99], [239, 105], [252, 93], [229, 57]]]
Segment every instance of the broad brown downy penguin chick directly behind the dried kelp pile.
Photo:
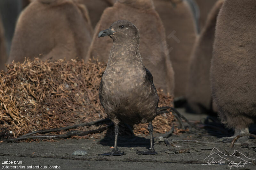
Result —
[[74, 0], [33, 0], [18, 19], [8, 63], [24, 57], [84, 58], [92, 27], [84, 5]]

